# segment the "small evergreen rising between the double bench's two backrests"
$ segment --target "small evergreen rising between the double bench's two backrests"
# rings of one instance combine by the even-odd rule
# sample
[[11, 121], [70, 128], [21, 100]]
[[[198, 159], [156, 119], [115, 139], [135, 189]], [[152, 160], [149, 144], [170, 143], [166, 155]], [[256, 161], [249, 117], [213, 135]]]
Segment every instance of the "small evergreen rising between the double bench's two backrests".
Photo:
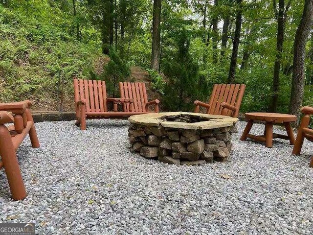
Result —
[[118, 83], [124, 82], [131, 74], [129, 65], [126, 64], [114, 50], [110, 49], [110, 61], [105, 66], [100, 79], [106, 81], [107, 93], [111, 97], [116, 97], [118, 93]]

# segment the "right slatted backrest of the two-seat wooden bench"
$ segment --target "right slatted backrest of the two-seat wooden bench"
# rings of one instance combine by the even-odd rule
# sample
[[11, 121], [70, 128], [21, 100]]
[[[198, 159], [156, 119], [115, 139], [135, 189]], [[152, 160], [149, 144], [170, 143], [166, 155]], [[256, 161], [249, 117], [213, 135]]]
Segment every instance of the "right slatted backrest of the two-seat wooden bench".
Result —
[[[139, 82], [120, 82], [119, 83], [121, 98], [134, 99], [132, 112], [146, 112], [146, 103], [148, 102], [146, 86]], [[123, 105], [123, 112], [130, 112], [129, 105]]]

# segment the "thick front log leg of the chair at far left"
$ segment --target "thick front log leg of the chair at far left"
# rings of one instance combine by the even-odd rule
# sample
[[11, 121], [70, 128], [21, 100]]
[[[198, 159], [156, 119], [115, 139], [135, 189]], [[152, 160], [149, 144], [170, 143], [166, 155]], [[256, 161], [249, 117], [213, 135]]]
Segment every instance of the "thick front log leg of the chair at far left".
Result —
[[26, 189], [9, 130], [0, 125], [0, 155], [14, 200], [26, 197]]

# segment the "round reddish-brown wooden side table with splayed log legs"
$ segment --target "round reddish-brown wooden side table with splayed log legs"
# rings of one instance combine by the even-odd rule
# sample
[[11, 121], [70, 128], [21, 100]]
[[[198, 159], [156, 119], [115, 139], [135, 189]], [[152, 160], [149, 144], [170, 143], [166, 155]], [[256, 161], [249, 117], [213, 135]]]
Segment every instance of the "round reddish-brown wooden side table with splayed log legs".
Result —
[[[265, 142], [265, 146], [268, 148], [273, 147], [273, 138], [280, 138], [284, 140], [290, 140], [290, 144], [294, 144], [294, 135], [291, 128], [291, 122], [295, 122], [297, 117], [289, 114], [275, 114], [275, 113], [246, 113], [245, 114], [248, 123], [244, 130], [240, 140], [245, 141], [246, 138], [250, 138], [256, 141]], [[254, 120], [265, 121], [264, 135], [255, 136], [249, 134]], [[280, 134], [273, 134], [273, 124], [283, 123], [285, 125], [287, 136]]]

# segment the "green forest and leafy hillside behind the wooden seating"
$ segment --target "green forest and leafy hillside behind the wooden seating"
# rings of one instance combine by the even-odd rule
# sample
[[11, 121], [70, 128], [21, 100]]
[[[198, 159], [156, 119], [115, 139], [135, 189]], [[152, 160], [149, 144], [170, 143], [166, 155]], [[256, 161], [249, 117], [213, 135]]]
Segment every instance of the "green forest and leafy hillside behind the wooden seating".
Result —
[[2, 0], [0, 101], [62, 109], [74, 103], [74, 77], [106, 80], [117, 96], [118, 81], [139, 66], [163, 110], [192, 111], [213, 84], [231, 82], [246, 84], [241, 113], [292, 113], [302, 95], [301, 105], [313, 106], [311, 28], [305, 85], [291, 98], [295, 36], [310, 2]]

